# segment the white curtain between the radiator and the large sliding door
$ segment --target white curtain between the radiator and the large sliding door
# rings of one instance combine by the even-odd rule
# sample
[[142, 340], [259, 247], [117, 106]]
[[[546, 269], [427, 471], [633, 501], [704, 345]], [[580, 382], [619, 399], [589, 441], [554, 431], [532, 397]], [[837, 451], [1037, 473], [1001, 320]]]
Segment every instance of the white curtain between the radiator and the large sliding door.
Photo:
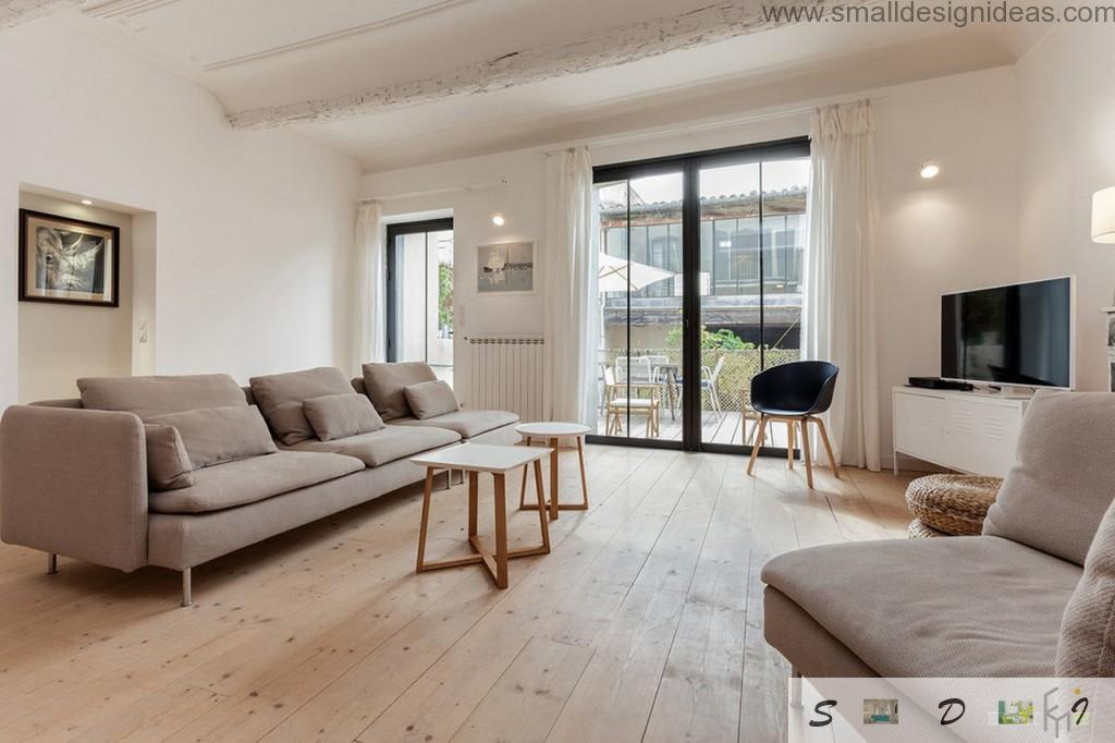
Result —
[[592, 163], [585, 147], [547, 156], [543, 413], [593, 425], [597, 251]]

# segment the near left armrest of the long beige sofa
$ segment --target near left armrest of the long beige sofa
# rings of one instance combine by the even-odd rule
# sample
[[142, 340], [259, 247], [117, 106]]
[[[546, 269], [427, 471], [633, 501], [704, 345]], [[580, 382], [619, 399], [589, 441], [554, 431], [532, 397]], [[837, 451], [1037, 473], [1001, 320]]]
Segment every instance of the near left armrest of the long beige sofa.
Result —
[[0, 539], [147, 563], [147, 447], [132, 413], [14, 405], [0, 421]]

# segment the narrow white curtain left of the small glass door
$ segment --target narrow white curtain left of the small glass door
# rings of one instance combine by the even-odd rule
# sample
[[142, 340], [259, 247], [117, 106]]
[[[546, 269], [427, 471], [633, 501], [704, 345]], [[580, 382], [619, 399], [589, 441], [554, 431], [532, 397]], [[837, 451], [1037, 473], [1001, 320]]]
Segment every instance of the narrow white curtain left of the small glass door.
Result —
[[356, 312], [352, 318], [352, 370], [360, 373], [367, 361], [382, 361], [387, 355], [385, 296], [387, 259], [384, 250], [379, 204], [360, 205], [356, 220]]

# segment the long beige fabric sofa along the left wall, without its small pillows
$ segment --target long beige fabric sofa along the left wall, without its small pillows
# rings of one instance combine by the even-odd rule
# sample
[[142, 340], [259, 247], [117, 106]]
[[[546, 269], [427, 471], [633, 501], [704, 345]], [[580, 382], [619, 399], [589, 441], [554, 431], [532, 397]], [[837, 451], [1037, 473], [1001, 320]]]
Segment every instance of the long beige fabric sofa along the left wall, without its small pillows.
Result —
[[[284, 379], [288, 376], [293, 380]], [[298, 428], [298, 421], [304, 419], [298, 389], [308, 390], [308, 397], [322, 390], [352, 393], [337, 369], [268, 379], [290, 383], [282, 387], [281, 414], [268, 418], [272, 433], [278, 424]], [[408, 461], [415, 454], [463, 438], [518, 441], [517, 417], [492, 411], [455, 414], [449, 422], [462, 423], [471, 434], [464, 437], [448, 427], [394, 422], [328, 442], [285, 444], [275, 433], [274, 453], [197, 469], [188, 486], [157, 491], [148, 479], [144, 421], [250, 406], [256, 402], [252, 388], [236, 386], [226, 375], [90, 379], [79, 385], [83, 398], [16, 405], [4, 412], [0, 539], [48, 552], [51, 567], [55, 556], [64, 554], [124, 571], [144, 566], [182, 571], [183, 605], [191, 602], [194, 566], [419, 482], [425, 471]], [[356, 390], [365, 394], [362, 385]]]

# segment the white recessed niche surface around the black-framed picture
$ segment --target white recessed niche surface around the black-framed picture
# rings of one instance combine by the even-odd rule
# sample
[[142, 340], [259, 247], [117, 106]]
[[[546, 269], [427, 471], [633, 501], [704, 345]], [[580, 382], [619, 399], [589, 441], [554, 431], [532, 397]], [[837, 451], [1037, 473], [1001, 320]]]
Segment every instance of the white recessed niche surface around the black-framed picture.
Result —
[[21, 209], [119, 228], [119, 307], [19, 303], [19, 401], [69, 397], [74, 379], [132, 373], [132, 215], [23, 193]]

